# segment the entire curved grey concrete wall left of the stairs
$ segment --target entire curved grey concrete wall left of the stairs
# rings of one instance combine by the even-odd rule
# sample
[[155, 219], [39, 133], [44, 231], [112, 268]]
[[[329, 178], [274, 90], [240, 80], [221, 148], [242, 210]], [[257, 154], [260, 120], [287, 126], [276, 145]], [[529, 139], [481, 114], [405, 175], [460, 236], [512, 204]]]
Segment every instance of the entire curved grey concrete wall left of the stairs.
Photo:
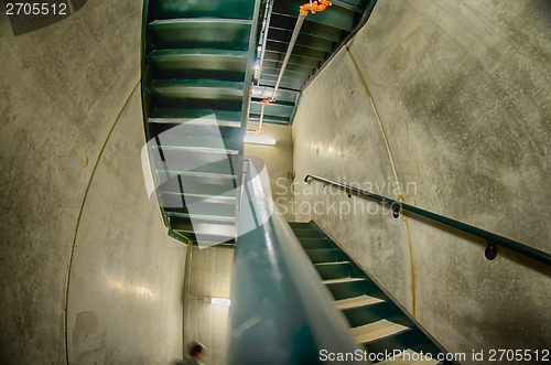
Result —
[[18, 36], [0, 14], [2, 364], [65, 363], [69, 266], [71, 363], [181, 357], [185, 249], [140, 165], [141, 6], [90, 0]]

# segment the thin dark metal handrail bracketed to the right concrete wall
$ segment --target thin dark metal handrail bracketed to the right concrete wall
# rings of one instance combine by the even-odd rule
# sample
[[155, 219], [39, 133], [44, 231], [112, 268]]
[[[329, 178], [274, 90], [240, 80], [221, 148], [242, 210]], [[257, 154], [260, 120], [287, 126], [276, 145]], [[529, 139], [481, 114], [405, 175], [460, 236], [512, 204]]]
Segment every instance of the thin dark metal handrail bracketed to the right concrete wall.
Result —
[[540, 262], [543, 262], [545, 265], [551, 266], [551, 255], [550, 254], [542, 251], [542, 250], [539, 250], [537, 248], [530, 247], [528, 245], [521, 244], [519, 241], [509, 239], [509, 238], [504, 237], [504, 236], [496, 235], [494, 233], [480, 229], [478, 227], [468, 225], [468, 224], [460, 222], [460, 221], [455, 221], [455, 219], [445, 217], [443, 215], [440, 215], [440, 214], [436, 214], [433, 212], [429, 212], [429, 211], [415, 207], [413, 205], [409, 205], [409, 204], [406, 204], [406, 203], [402, 203], [399, 201], [395, 201], [390, 197], [386, 197], [386, 196], [377, 195], [377, 194], [374, 194], [370, 192], [366, 192], [364, 190], [360, 190], [360, 189], [357, 189], [357, 187], [354, 187], [350, 185], [346, 185], [346, 184], [343, 184], [343, 183], [339, 183], [339, 182], [336, 182], [336, 181], [333, 181], [329, 179], [309, 174], [304, 178], [304, 182], [310, 183], [314, 179], [318, 180], [323, 183], [332, 184], [332, 185], [335, 185], [335, 186], [338, 186], [338, 187], [346, 190], [346, 192], [348, 193], [348, 196], [350, 196], [352, 193], [354, 193], [357, 195], [370, 197], [370, 198], [379, 201], [381, 203], [390, 204], [390, 207], [392, 210], [392, 214], [395, 215], [395, 217], [398, 217], [400, 214], [400, 211], [403, 210], [403, 211], [408, 211], [408, 212], [414, 213], [417, 215], [423, 216], [423, 217], [429, 218], [431, 221], [442, 223], [446, 226], [466, 232], [471, 235], [480, 237], [488, 243], [488, 246], [486, 247], [486, 251], [485, 251], [485, 256], [488, 260], [493, 260], [494, 258], [496, 258], [496, 255], [497, 255], [497, 247], [496, 246], [503, 246], [503, 247], [506, 247], [506, 248], [514, 250], [518, 254], [521, 254], [523, 256], [530, 257], [534, 260], [538, 260]]

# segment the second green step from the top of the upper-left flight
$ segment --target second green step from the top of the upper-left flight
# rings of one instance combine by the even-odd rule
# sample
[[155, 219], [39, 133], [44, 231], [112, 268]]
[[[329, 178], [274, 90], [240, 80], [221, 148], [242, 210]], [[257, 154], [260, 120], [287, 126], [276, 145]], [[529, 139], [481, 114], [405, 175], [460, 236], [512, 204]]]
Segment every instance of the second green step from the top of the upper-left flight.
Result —
[[[206, 1], [202, 1], [206, 2]], [[250, 20], [166, 19], [149, 24], [155, 49], [219, 49], [247, 51]]]

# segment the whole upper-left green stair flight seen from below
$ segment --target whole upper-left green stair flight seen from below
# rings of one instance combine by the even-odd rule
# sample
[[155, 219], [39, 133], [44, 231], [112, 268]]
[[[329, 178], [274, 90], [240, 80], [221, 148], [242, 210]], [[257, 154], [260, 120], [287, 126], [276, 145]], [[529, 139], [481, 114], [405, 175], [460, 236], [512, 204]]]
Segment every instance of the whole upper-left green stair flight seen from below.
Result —
[[[150, 164], [169, 234], [186, 243], [235, 238], [259, 8], [259, 0], [144, 2]], [[214, 126], [199, 120], [213, 115]]]

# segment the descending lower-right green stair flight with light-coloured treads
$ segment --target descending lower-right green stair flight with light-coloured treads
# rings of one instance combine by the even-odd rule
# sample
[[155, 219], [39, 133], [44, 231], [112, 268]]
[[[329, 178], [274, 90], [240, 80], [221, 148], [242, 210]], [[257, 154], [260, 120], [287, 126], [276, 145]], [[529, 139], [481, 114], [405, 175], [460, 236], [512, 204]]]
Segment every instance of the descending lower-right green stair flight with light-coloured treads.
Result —
[[[335, 305], [344, 313], [358, 344], [369, 353], [393, 353], [399, 350], [431, 354], [433, 358], [436, 358], [439, 353], [446, 353], [315, 223], [290, 223], [290, 225], [323, 283], [335, 299]], [[380, 364], [387, 363], [383, 361]]]

